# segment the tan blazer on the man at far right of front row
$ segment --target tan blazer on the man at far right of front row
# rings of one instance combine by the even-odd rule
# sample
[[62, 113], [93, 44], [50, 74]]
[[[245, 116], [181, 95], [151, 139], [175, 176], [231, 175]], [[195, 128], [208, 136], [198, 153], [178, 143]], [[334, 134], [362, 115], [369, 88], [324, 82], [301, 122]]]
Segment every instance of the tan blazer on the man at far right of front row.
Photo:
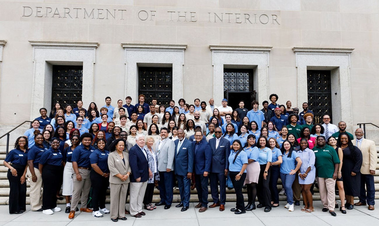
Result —
[[[354, 144], [354, 146], [356, 146], [356, 139], [352, 140], [351, 142]], [[362, 152], [362, 167], [360, 168], [360, 173], [370, 174], [370, 170], [376, 170], [377, 164], [375, 142], [362, 138], [362, 143], [360, 144], [360, 147], [358, 146], [358, 148]]]

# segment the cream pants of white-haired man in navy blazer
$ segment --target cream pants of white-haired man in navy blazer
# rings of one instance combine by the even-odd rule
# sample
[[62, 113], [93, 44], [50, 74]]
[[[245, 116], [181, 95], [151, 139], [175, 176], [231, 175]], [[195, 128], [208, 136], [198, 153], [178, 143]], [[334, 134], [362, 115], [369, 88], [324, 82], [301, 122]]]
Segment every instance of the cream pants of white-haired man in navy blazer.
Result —
[[129, 212], [134, 216], [137, 213], [142, 212], [143, 197], [147, 187], [147, 181], [145, 182], [130, 182], [130, 201]]

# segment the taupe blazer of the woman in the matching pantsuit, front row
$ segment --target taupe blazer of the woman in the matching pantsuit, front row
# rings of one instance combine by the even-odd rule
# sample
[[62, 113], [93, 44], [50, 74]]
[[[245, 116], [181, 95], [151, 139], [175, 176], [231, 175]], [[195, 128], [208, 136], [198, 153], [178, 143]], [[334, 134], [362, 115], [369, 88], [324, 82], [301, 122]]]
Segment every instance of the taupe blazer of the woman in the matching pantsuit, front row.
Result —
[[117, 151], [113, 151], [108, 155], [108, 167], [110, 171], [109, 182], [111, 184], [127, 184], [130, 182], [129, 177], [127, 180], [122, 181], [120, 178], [115, 176], [119, 173], [125, 175], [128, 172], [132, 172], [129, 165], [129, 154], [124, 151], [122, 154], [124, 155], [125, 165]]

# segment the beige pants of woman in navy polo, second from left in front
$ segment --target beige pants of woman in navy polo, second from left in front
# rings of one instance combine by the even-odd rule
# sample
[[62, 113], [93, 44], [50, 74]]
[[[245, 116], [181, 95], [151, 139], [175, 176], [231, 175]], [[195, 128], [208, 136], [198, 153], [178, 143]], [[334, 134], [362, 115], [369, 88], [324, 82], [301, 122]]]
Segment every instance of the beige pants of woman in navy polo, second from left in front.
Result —
[[27, 170], [27, 176], [30, 181], [30, 209], [31, 211], [36, 211], [42, 208], [42, 175], [39, 170], [34, 168], [34, 173], [37, 176], [37, 181], [33, 182], [32, 175], [30, 173], [29, 167]]

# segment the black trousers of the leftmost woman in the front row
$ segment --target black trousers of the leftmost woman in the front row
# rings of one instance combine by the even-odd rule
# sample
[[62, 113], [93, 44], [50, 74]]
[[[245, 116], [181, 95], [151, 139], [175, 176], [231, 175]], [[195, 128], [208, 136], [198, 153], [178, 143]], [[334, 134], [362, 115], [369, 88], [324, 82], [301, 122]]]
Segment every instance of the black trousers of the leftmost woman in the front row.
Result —
[[13, 176], [11, 170], [8, 170], [6, 176], [9, 180], [9, 213], [26, 210], [26, 180], [23, 184], [20, 178], [25, 171], [26, 166], [13, 164], [12, 167], [17, 171], [17, 176]]

